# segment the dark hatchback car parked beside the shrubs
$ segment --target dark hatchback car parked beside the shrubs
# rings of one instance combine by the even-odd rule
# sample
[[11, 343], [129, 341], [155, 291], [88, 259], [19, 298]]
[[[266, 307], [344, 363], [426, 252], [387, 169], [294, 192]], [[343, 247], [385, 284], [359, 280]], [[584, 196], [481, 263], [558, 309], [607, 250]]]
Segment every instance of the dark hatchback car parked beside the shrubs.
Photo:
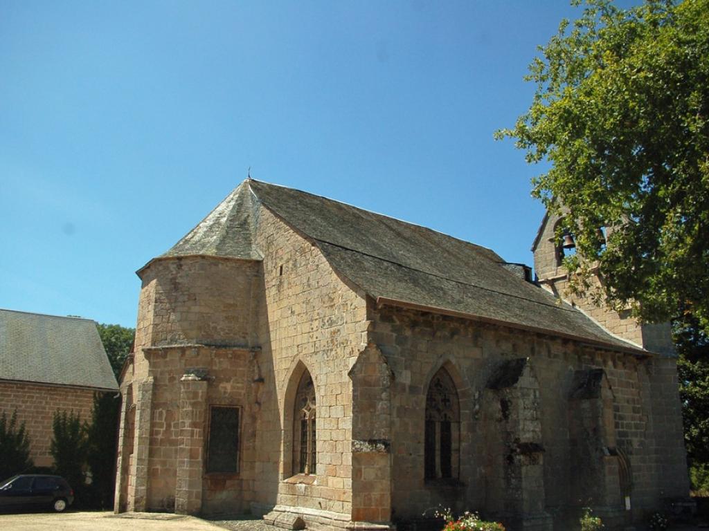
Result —
[[74, 503], [74, 490], [61, 476], [23, 474], [0, 484], [0, 510], [52, 509], [61, 513]]

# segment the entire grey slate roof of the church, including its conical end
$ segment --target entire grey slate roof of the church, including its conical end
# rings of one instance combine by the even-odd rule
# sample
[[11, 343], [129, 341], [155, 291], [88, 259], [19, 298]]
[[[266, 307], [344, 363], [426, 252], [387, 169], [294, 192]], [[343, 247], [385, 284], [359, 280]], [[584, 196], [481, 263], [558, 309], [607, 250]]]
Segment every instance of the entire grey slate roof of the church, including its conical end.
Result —
[[[250, 190], [250, 197], [246, 191]], [[311, 193], [247, 179], [163, 256], [259, 259], [258, 205], [318, 246], [330, 265], [379, 302], [400, 302], [642, 351], [578, 309], [510, 273], [490, 249]]]

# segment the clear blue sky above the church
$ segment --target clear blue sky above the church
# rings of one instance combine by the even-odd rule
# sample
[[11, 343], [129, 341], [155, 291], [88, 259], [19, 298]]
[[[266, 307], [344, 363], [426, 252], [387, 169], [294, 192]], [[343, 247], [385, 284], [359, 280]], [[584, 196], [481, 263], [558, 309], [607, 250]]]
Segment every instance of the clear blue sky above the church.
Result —
[[135, 326], [135, 275], [247, 175], [532, 262], [493, 131], [547, 1], [0, 3], [0, 307]]

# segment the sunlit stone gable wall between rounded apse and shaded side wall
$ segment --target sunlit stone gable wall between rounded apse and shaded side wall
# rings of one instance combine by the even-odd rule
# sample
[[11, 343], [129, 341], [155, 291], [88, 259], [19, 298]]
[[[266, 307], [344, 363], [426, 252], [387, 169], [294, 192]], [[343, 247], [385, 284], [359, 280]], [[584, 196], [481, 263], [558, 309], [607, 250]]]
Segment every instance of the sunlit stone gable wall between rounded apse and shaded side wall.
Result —
[[[265, 292], [259, 316], [264, 389], [257, 447], [266, 457], [256, 469], [257, 498], [263, 510], [274, 505], [275, 513], [296, 510], [313, 527], [328, 519], [344, 523], [352, 513], [347, 372], [366, 345], [366, 305], [316, 246], [263, 207], [257, 247], [264, 256]], [[303, 366], [316, 389], [315, 481], [294, 474], [292, 455], [293, 395]]]

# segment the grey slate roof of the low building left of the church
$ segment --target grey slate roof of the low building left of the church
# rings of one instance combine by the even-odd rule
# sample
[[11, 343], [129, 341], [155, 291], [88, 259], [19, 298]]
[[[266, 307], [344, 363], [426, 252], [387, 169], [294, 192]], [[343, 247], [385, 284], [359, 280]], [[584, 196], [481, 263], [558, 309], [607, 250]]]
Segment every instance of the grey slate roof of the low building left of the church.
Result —
[[117, 391], [96, 323], [0, 309], [0, 380]]

